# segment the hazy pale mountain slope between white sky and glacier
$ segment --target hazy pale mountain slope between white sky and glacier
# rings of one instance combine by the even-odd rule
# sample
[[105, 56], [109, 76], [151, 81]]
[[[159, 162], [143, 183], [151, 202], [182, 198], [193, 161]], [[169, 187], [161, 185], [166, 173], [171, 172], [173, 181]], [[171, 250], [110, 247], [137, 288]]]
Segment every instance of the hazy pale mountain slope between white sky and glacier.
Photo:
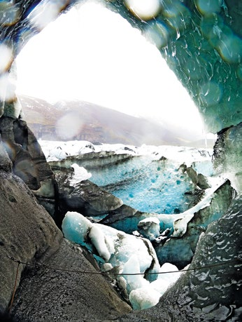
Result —
[[[189, 145], [172, 129], [146, 119], [80, 100], [45, 100], [19, 95], [24, 119], [43, 140], [87, 140], [127, 145]], [[200, 145], [201, 146], [201, 145]]]

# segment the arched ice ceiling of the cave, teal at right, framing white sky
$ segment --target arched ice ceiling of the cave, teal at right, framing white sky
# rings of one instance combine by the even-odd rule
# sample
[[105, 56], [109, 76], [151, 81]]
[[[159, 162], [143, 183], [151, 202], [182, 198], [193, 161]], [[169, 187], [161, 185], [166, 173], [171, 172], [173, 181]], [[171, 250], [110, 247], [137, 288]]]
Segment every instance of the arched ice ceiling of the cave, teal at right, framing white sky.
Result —
[[[17, 53], [31, 36], [81, 2], [0, 1], [0, 114], [20, 114], [14, 88], [7, 83]], [[102, 2], [152, 39], [196, 102], [208, 132], [241, 122], [241, 1], [152, 0], [142, 1], [143, 6], [135, 0]]]

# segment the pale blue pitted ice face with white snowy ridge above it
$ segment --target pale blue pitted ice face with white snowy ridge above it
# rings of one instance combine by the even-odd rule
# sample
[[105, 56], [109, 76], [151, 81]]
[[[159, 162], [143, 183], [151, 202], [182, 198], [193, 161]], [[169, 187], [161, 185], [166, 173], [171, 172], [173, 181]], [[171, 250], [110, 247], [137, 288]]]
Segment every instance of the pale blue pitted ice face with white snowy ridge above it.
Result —
[[[180, 166], [192, 166], [212, 175], [211, 149], [189, 147], [92, 145], [87, 141], [50, 142], [40, 140], [48, 161], [92, 152], [130, 154], [131, 159], [106, 166], [89, 162], [90, 180], [122, 199], [124, 204], [148, 213], [183, 213], [189, 208], [194, 184]], [[76, 161], [77, 162], [77, 161]]]

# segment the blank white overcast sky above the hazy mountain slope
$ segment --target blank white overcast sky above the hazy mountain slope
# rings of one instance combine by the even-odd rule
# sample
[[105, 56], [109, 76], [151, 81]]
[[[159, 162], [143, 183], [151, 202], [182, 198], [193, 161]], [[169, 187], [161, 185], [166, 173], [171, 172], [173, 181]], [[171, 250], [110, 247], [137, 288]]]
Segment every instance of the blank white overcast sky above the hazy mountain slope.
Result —
[[100, 4], [61, 15], [16, 61], [17, 93], [48, 102], [77, 98], [203, 132], [194, 102], [157, 48]]

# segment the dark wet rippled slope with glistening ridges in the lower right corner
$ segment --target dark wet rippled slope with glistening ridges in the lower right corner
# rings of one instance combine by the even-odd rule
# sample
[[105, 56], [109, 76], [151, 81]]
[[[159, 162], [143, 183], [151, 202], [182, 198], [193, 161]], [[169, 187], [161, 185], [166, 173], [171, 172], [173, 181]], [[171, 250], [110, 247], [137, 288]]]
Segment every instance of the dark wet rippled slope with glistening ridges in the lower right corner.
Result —
[[241, 321], [241, 201], [199, 239], [190, 269], [207, 268], [185, 272], [155, 307], [115, 321]]

